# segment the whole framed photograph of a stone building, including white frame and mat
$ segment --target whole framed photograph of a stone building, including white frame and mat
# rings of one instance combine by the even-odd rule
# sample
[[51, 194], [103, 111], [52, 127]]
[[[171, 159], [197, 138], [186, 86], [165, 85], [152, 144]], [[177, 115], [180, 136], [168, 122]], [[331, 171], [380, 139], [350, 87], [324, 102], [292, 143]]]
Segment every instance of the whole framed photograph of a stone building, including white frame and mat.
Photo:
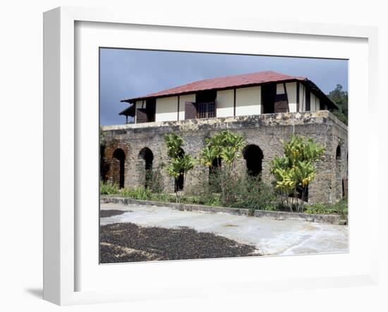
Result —
[[375, 28], [44, 13], [44, 299], [375, 284], [376, 77]]

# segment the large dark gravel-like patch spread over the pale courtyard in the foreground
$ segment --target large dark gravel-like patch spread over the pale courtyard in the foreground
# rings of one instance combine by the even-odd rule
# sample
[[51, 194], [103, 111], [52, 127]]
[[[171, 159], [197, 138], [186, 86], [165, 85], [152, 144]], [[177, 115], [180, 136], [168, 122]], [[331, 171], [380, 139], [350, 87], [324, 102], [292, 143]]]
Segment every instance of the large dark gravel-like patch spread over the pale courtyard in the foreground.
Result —
[[165, 229], [115, 223], [100, 227], [100, 263], [257, 256], [255, 246], [240, 244], [189, 227]]

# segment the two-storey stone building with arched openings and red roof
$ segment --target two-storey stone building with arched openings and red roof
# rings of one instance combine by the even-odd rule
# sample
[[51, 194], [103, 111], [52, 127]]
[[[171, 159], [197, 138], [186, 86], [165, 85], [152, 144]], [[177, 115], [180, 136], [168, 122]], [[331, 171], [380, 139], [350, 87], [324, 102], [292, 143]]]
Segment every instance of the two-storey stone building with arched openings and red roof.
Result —
[[[127, 124], [102, 127], [101, 149], [102, 179], [121, 187], [145, 186], [145, 172], [167, 162], [166, 133], [180, 133], [183, 152], [198, 157], [206, 138], [227, 129], [245, 138], [237, 170], [261, 174], [267, 183], [272, 159], [283, 153], [281, 139], [292, 133], [313, 138], [326, 152], [309, 186], [309, 203], [335, 203], [346, 193], [347, 127], [329, 112], [335, 104], [307, 78], [265, 71], [200, 80], [123, 102], [130, 103], [120, 113]], [[128, 124], [128, 117], [134, 122]], [[174, 179], [160, 172], [164, 191], [173, 192]], [[204, 174], [209, 172], [197, 164], [181, 181], [183, 191], [195, 188]]]

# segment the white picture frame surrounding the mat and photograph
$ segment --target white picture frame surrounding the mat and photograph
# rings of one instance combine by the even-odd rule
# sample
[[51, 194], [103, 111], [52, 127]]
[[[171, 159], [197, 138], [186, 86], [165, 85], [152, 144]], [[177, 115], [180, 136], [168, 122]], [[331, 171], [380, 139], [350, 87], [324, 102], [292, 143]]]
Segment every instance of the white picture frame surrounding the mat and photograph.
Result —
[[[190, 18], [188, 16], [147, 16], [145, 14], [136, 14], [128, 17], [126, 13], [107, 11], [101, 9], [89, 8], [69, 8], [61, 7], [44, 13], [44, 299], [60, 305], [69, 304], [87, 304], [97, 302], [111, 301], [131, 301], [146, 299], [164, 299], [177, 298], [185, 296], [217, 295], [217, 294], [236, 294], [236, 292], [260, 292], [264, 289], [281, 291], [288, 289], [293, 285], [293, 289], [311, 289], [327, 287], [348, 287], [354, 284], [370, 285], [377, 283], [377, 236], [378, 203], [377, 197], [368, 196], [368, 200], [363, 203], [368, 205], [365, 217], [368, 222], [365, 228], [368, 230], [370, 238], [370, 248], [365, 249], [365, 258], [363, 265], [358, 265], [359, 269], [348, 270], [341, 274], [340, 272], [327, 272], [325, 277], [314, 276], [310, 273], [301, 274], [300, 278], [296, 275], [281, 278], [267, 278], [265, 281], [253, 276], [252, 279], [246, 280], [238, 275], [231, 280], [222, 280], [217, 282], [218, 287], [208, 287], [198, 284], [188, 285], [179, 284], [171, 279], [166, 282], [164, 289], [158, 291], [157, 281], [155, 280], [154, 289], [131, 289], [131, 287], [113, 287], [107, 289], [79, 290], [77, 277], [80, 275], [77, 265], [79, 260], [79, 246], [77, 243], [77, 231], [80, 229], [80, 220], [76, 203], [78, 203], [78, 180], [77, 172], [80, 169], [77, 162], [78, 148], [80, 138], [78, 138], [78, 111], [75, 107], [75, 23], [113, 23], [114, 25], [153, 25], [162, 28], [180, 28], [217, 31], [232, 31], [238, 34], [244, 33], [265, 33], [284, 34], [284, 35], [303, 35], [314, 37], [331, 37], [334, 40], [341, 41], [341, 38], [355, 38], [365, 40], [368, 45], [368, 77], [365, 77], [365, 84], [368, 82], [368, 90], [363, 90], [367, 95], [365, 100], [368, 101], [368, 132], [365, 133], [365, 139], [368, 144], [368, 151], [365, 162], [365, 179], [368, 183], [368, 193], [372, 193], [373, 179], [376, 179], [378, 170], [377, 162], [374, 162], [377, 151], [377, 124], [372, 122], [374, 113], [377, 112], [377, 29], [364, 26], [344, 26], [328, 25], [315, 23], [291, 23], [291, 22], [274, 22], [265, 20], [247, 20], [243, 18], [224, 20], [222, 17], [208, 19]], [[109, 24], [112, 25], [112, 24]], [[78, 38], [79, 39], [79, 38]], [[279, 52], [280, 53], [280, 52]], [[352, 65], [350, 66], [352, 68]], [[351, 69], [350, 69], [351, 70]], [[352, 93], [350, 92], [350, 98]], [[354, 101], [356, 103], [356, 101]], [[356, 120], [356, 110], [354, 113]], [[351, 126], [350, 126], [351, 127]], [[352, 132], [350, 131], [350, 136]], [[351, 144], [351, 143], [350, 143]], [[355, 158], [356, 159], [356, 158]], [[351, 172], [351, 162], [349, 162]], [[375, 172], [375, 174], [374, 174]], [[349, 203], [357, 205], [356, 200], [352, 202], [352, 196], [357, 192], [351, 191], [356, 189], [356, 177], [349, 176]], [[97, 211], [96, 211], [97, 213]], [[358, 212], [357, 212], [358, 213]], [[356, 221], [356, 217], [350, 216]], [[356, 222], [354, 223], [356, 224]], [[351, 224], [352, 226], [352, 224]], [[356, 229], [356, 227], [355, 227]], [[356, 233], [357, 234], [357, 233]], [[358, 237], [358, 235], [353, 235]], [[97, 244], [97, 237], [96, 244]], [[353, 250], [356, 250], [354, 248]], [[350, 251], [352, 253], [352, 251]], [[298, 262], [308, 262], [315, 256], [295, 256], [299, 258]], [[315, 258], [317, 261], [319, 258]], [[291, 259], [292, 260], [292, 259]], [[324, 258], [322, 258], [324, 260]], [[325, 260], [330, 260], [326, 255]], [[336, 258], [331, 259], [334, 263]], [[97, 260], [96, 260], [97, 261]], [[214, 261], [214, 260], [212, 260]], [[221, 261], [224, 260], [215, 260]], [[227, 260], [225, 260], [227, 261]], [[238, 266], [238, 261], [244, 259], [229, 260], [229, 265]], [[245, 259], [245, 262], [247, 260]], [[255, 265], [255, 261], [261, 263], [280, 263], [284, 260], [278, 258], [258, 259], [252, 258], [247, 265]], [[287, 260], [288, 261], [288, 260]], [[193, 261], [178, 262], [182, 270], [188, 270], [193, 265]], [[195, 263], [198, 263], [196, 261]], [[202, 267], [207, 264], [214, 264], [209, 260], [200, 260]], [[205, 264], [204, 264], [205, 263]], [[147, 263], [147, 268], [162, 268], [159, 263]], [[117, 270], [124, 270], [123, 265], [112, 265]], [[144, 266], [144, 264], [143, 264]], [[197, 265], [198, 266], [198, 265]], [[121, 268], [121, 269], [120, 269]], [[170, 268], [173, 268], [170, 266]], [[138, 267], [141, 270], [140, 266]], [[168, 270], [168, 268], [164, 267]], [[163, 270], [164, 270], [163, 269]], [[176, 272], [178, 266], [174, 267]], [[195, 268], [200, 270], [200, 268]], [[155, 271], [156, 272], [156, 271]], [[166, 271], [168, 272], [168, 271]], [[162, 276], [162, 275], [161, 275]], [[147, 277], [150, 278], [150, 277]], [[214, 281], [215, 282], [215, 281]], [[238, 287], [234, 287], [238, 283]], [[237, 288], [237, 290], [236, 290]]]

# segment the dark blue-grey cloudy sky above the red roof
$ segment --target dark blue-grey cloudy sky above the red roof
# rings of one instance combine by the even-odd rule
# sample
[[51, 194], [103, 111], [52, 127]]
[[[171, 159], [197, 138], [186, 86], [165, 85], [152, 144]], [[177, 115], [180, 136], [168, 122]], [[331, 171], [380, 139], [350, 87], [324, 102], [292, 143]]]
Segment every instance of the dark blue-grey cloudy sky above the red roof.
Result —
[[100, 49], [100, 124], [124, 124], [120, 100], [219, 76], [278, 71], [305, 76], [326, 94], [348, 90], [348, 61], [131, 49]]

